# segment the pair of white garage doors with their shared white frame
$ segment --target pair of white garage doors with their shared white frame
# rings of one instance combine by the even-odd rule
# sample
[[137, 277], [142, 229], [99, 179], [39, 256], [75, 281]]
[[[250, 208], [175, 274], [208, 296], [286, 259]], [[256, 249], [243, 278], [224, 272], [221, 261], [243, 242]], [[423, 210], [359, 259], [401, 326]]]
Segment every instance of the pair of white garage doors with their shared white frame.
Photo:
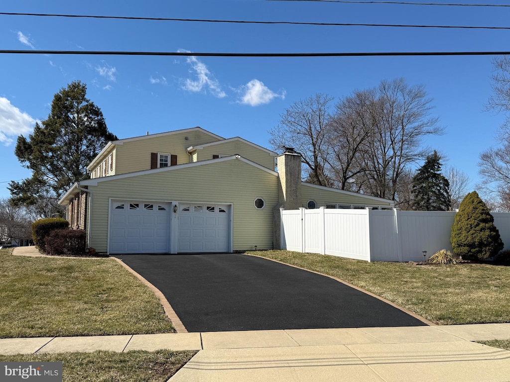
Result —
[[109, 253], [231, 252], [230, 212], [227, 204], [114, 200]]

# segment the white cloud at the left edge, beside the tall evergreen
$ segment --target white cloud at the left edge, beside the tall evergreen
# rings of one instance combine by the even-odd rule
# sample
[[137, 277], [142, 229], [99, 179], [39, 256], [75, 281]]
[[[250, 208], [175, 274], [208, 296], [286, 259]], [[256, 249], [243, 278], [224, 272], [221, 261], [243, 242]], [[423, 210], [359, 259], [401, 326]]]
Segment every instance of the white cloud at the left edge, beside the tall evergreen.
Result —
[[34, 128], [36, 120], [22, 113], [5, 97], [0, 97], [0, 142], [6, 146], [20, 134], [28, 134]]

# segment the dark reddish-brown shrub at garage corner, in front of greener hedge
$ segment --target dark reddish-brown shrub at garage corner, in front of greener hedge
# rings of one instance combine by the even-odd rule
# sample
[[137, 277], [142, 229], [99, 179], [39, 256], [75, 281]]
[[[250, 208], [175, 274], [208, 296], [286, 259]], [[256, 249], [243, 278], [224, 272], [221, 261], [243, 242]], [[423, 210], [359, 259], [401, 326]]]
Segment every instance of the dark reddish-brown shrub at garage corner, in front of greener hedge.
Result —
[[85, 255], [85, 231], [63, 228], [46, 237], [46, 253], [54, 256]]

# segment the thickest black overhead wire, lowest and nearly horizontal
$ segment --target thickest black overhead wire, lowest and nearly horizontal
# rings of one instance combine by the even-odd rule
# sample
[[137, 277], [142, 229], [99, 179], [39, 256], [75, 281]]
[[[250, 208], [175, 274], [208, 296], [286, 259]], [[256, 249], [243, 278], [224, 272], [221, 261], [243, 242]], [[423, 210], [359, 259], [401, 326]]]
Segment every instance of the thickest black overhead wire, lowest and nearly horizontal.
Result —
[[330, 53], [211, 53], [137, 52], [99, 50], [0, 50], [0, 54], [93, 54], [106, 56], [199, 56], [199, 57], [366, 57], [366, 56], [498, 56], [510, 51], [477, 52], [330, 52]]

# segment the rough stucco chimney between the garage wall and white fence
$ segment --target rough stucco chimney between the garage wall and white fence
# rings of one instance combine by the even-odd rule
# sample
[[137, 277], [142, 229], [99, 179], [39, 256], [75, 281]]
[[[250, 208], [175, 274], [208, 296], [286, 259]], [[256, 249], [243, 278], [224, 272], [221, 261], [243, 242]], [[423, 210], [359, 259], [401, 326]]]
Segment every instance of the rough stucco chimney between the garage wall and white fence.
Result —
[[276, 158], [278, 166], [278, 204], [274, 207], [273, 248], [280, 248], [280, 208], [301, 207], [301, 154], [291, 147]]

